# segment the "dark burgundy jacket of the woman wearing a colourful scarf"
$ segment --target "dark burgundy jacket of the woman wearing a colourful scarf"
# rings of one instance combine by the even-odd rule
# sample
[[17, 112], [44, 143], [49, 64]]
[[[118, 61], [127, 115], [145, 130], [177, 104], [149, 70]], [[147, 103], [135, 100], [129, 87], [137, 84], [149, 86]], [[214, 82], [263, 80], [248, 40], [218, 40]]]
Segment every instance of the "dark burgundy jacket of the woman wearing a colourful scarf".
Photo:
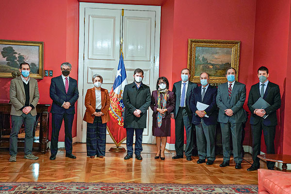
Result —
[[[150, 108], [153, 110], [153, 117], [158, 117], [158, 95], [157, 95], [157, 90], [152, 92], [152, 97], [151, 97], [151, 103], [150, 103]], [[165, 118], [170, 118], [171, 117], [171, 112], [175, 108], [175, 94], [174, 92], [168, 91], [168, 97], [167, 97], [167, 106], [166, 109], [168, 110], [165, 113]]]

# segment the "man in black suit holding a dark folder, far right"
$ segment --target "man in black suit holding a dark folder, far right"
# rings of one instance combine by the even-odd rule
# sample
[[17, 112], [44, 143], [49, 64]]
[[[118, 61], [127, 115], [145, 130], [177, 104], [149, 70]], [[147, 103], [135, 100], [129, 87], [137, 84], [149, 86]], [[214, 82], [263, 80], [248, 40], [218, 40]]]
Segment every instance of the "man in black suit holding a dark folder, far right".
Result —
[[[253, 135], [253, 164], [247, 171], [257, 170], [259, 168], [260, 143], [262, 130], [264, 132], [267, 154], [275, 154], [274, 139], [277, 125], [276, 111], [281, 106], [281, 96], [279, 86], [268, 80], [269, 70], [265, 66], [258, 69], [259, 83], [253, 85], [248, 97], [247, 106], [251, 111], [250, 124]], [[262, 99], [259, 99], [259, 98]], [[259, 99], [259, 101], [258, 101]], [[257, 102], [258, 101], [258, 102]], [[256, 103], [257, 102], [257, 103]], [[266, 103], [269, 105], [262, 105]], [[255, 107], [254, 104], [261, 104], [261, 107]], [[267, 116], [266, 116], [267, 115]], [[274, 170], [275, 162], [268, 162], [267, 167]]]

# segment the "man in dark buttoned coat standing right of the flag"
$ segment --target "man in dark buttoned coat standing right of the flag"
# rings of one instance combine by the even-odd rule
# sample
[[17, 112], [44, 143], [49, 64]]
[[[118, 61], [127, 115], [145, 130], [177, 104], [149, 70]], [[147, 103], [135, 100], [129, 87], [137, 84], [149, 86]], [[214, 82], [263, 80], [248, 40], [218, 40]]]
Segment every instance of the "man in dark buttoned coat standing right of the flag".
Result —
[[135, 131], [134, 153], [137, 160], [143, 160], [143, 131], [146, 128], [146, 112], [151, 102], [149, 87], [143, 84], [144, 71], [135, 69], [133, 73], [134, 81], [124, 87], [123, 103], [125, 106], [124, 128], [126, 128], [128, 149], [125, 160], [132, 158], [133, 154], [133, 134]]

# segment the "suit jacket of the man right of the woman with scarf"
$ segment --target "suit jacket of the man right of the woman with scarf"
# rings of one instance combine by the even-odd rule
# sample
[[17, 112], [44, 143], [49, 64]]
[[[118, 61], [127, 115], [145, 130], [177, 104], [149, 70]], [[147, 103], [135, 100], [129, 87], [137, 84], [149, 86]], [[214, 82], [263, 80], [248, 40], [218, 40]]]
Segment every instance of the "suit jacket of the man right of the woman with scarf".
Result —
[[[174, 92], [175, 98], [176, 98], [176, 105], [175, 105], [175, 109], [174, 109], [174, 117], [175, 118], [178, 114], [178, 110], [179, 110], [179, 106], [180, 106], [181, 82], [182, 81], [178, 81], [178, 82], [174, 83], [174, 85], [173, 85], [173, 92]], [[192, 111], [190, 108], [190, 98], [191, 98], [192, 91], [194, 90], [195, 87], [197, 87], [197, 84], [189, 81], [187, 93], [186, 93], [185, 105], [186, 105], [186, 111], [187, 111], [187, 114], [188, 114], [190, 121], [192, 120]]]

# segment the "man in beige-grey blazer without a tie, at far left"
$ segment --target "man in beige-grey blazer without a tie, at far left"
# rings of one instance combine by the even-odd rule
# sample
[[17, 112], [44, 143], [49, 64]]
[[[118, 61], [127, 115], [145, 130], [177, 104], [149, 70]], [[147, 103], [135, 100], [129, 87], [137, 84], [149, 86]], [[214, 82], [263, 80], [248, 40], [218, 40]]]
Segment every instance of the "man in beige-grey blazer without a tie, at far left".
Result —
[[10, 159], [9, 162], [16, 162], [18, 132], [24, 123], [25, 142], [24, 158], [37, 160], [38, 157], [32, 154], [33, 129], [36, 117], [36, 105], [39, 100], [37, 81], [29, 77], [30, 65], [21, 63], [19, 65], [21, 75], [10, 83], [11, 102], [11, 133], [10, 133]]

